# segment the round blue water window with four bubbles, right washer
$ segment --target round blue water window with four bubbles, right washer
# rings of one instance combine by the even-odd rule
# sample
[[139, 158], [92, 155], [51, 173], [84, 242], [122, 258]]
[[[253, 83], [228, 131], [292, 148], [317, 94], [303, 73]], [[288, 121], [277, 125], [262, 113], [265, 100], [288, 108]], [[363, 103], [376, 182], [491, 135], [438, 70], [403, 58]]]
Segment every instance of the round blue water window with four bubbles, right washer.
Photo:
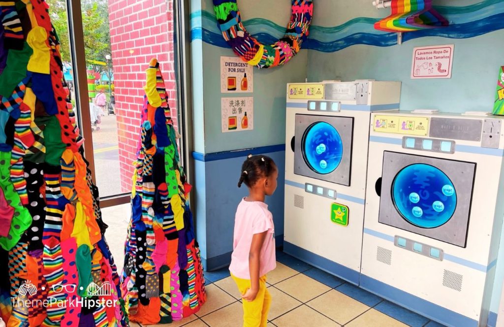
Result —
[[416, 163], [401, 170], [392, 183], [392, 201], [409, 223], [422, 228], [444, 225], [457, 207], [457, 192], [441, 170]]

